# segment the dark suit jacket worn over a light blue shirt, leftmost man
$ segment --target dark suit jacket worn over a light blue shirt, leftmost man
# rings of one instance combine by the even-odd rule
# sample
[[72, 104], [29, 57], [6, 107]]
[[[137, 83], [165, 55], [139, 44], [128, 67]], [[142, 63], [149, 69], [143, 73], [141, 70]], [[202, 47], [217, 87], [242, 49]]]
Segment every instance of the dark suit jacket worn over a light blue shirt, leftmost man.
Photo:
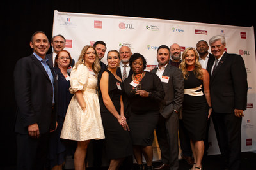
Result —
[[[50, 67], [51, 69], [51, 67]], [[28, 134], [28, 125], [38, 124], [40, 134], [55, 129], [56, 107], [52, 111], [52, 96], [57, 102], [57, 80], [54, 90], [44, 66], [35, 55], [17, 61], [14, 70], [14, 90], [17, 102], [15, 132]], [[56, 106], [56, 104], [55, 104]]]

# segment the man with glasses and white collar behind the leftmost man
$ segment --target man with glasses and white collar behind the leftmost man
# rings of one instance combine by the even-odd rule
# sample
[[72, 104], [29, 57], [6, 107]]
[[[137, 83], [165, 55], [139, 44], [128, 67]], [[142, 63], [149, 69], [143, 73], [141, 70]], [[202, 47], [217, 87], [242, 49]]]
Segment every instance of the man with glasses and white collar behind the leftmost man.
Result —
[[[54, 60], [55, 60], [56, 55], [61, 50], [63, 50], [65, 48], [66, 39], [64, 38], [63, 35], [58, 34], [56, 36], [53, 36], [51, 41], [52, 41], [51, 45], [52, 45], [52, 48], [53, 48], [53, 52], [47, 54], [46, 57], [48, 59], [47, 64], [49, 64], [49, 66], [53, 68], [54, 67]], [[70, 65], [70, 67], [68, 67], [68, 73], [71, 72], [71, 69], [72, 69], [72, 67], [74, 67], [74, 64], [75, 64], [75, 60], [72, 59], [71, 65]]]

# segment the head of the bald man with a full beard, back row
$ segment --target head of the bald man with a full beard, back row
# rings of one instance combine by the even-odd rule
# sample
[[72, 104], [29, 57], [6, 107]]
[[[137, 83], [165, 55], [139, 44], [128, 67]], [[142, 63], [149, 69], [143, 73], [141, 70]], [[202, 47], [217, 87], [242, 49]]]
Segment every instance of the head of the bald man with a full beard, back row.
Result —
[[180, 66], [181, 62], [181, 49], [180, 46], [177, 43], [174, 43], [173, 45], [170, 46], [171, 50], [171, 60], [170, 64], [172, 66], [178, 67]]

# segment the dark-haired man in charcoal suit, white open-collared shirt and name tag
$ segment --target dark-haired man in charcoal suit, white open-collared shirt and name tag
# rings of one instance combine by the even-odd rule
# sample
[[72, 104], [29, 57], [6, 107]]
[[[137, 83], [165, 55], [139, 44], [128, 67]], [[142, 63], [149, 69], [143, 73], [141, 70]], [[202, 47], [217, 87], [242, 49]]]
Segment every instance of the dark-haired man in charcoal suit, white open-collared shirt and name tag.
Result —
[[164, 100], [160, 105], [159, 122], [156, 127], [163, 164], [155, 169], [179, 169], [179, 111], [184, 98], [184, 78], [180, 69], [171, 64], [170, 49], [161, 45], [157, 49], [158, 66], [152, 70], [162, 81]]

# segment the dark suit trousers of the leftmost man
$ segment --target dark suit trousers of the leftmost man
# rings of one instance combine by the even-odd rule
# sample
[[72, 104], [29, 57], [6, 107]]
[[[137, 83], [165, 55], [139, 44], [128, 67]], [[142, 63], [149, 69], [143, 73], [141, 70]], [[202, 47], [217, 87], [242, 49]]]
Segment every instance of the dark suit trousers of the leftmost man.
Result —
[[17, 134], [17, 169], [44, 169], [47, 162], [49, 133], [38, 139]]

